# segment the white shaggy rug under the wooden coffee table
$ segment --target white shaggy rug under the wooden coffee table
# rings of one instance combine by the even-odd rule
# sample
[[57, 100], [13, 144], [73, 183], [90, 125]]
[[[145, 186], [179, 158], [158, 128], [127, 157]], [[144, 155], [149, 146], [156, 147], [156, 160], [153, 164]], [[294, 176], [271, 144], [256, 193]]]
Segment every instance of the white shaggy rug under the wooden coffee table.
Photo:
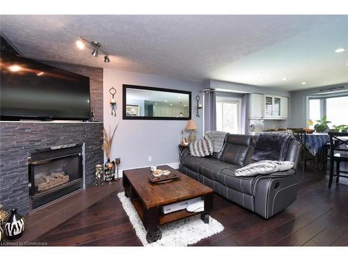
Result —
[[224, 229], [221, 223], [213, 219], [211, 216], [209, 217], [209, 223], [205, 224], [198, 214], [187, 219], [160, 226], [162, 232], [161, 239], [152, 244], [148, 244], [146, 241], [146, 230], [138, 212], [136, 212], [136, 209], [132, 204], [132, 201], [125, 196], [124, 192], [118, 193], [117, 196], [120, 198], [122, 207], [129, 216], [129, 220], [131, 221], [136, 231], [136, 235], [139, 237], [143, 246], [187, 246], [189, 244], [194, 244], [201, 239], [217, 234]]

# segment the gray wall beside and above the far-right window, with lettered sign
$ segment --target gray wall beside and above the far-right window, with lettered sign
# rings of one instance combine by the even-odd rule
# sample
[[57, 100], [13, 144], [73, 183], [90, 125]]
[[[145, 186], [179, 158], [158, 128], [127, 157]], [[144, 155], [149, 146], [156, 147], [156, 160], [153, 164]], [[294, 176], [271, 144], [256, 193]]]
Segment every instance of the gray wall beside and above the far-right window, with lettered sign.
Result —
[[[348, 83], [335, 84], [334, 86], [344, 86], [348, 91]], [[331, 87], [331, 86], [326, 86]], [[299, 90], [290, 93], [290, 106], [291, 109], [289, 126], [290, 127], [306, 127], [306, 96], [315, 94], [330, 94], [331, 91], [321, 92], [323, 87], [310, 88], [307, 90]]]

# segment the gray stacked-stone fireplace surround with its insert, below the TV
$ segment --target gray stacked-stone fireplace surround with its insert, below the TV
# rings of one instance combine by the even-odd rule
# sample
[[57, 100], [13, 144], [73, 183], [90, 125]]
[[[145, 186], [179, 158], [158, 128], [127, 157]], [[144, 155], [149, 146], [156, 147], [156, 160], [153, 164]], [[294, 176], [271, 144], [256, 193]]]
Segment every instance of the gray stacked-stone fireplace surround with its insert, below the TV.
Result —
[[19, 214], [93, 185], [102, 122], [0, 122], [0, 203]]

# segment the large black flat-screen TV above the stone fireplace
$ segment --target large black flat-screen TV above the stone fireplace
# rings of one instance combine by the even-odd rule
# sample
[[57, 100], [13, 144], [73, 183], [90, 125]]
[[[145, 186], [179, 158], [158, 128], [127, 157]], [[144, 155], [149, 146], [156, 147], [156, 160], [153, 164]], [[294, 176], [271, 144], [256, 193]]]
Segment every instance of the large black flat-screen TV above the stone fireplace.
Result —
[[1, 120], [88, 120], [89, 78], [1, 52]]

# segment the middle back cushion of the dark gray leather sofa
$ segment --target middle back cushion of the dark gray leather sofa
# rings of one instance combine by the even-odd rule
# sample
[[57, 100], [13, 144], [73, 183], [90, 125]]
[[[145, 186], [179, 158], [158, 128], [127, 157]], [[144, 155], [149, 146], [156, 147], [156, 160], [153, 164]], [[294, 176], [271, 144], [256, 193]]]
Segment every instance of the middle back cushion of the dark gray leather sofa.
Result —
[[246, 158], [250, 154], [248, 152], [253, 150], [252, 144], [253, 136], [230, 134], [228, 135], [220, 160], [230, 164], [244, 166], [249, 163], [246, 162]]

